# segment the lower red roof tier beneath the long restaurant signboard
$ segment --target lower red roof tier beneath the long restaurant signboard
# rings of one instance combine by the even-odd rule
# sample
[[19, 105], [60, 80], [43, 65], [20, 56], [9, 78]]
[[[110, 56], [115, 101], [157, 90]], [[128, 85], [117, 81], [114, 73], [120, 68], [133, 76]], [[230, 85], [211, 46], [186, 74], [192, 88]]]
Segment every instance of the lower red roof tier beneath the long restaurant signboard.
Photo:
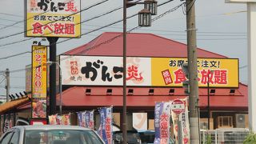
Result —
[[[86, 89], [90, 89], [91, 93], [86, 94]], [[112, 95], [106, 94], [107, 89], [112, 90]], [[149, 95], [149, 90], [152, 88], [127, 87], [126, 90], [128, 91], [129, 89], [133, 89], [134, 93], [132, 95], [127, 93], [127, 106], [154, 106], [155, 102], [168, 102], [175, 98], [186, 98], [183, 88], [154, 88], [154, 95]], [[173, 94], [169, 94], [170, 89], [174, 89]], [[234, 91], [234, 94], [230, 94], [230, 89], [215, 89], [214, 95], [210, 95], [211, 109], [247, 110], [246, 89], [247, 86], [241, 83], [239, 88]], [[202, 109], [207, 106], [207, 96], [207, 89], [199, 88], [199, 106]], [[62, 106], [122, 106], [122, 87], [73, 86], [62, 92]]]

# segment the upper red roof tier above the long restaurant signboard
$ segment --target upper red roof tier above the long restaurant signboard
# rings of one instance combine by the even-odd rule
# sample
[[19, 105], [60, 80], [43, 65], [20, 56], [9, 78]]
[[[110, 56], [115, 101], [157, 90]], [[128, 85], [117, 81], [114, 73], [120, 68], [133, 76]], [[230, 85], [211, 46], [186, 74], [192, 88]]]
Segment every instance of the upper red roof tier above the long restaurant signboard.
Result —
[[[119, 37], [118, 37], [119, 36]], [[110, 41], [114, 38], [113, 41]], [[103, 42], [106, 42], [103, 44]], [[126, 55], [138, 57], [187, 57], [186, 44], [155, 34], [129, 33], [126, 36]], [[122, 56], [122, 33], [106, 32], [85, 45], [64, 54]], [[198, 48], [198, 58], [226, 58]]]

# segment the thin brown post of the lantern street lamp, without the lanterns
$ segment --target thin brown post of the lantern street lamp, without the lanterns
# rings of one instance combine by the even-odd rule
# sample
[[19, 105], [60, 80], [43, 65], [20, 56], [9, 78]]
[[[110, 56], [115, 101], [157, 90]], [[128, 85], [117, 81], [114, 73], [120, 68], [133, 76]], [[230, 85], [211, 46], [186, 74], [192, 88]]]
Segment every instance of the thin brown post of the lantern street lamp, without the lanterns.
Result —
[[123, 79], [122, 79], [122, 137], [123, 144], [127, 143], [127, 123], [126, 123], [126, 0], [123, 0], [123, 54], [122, 54], [122, 63], [123, 63]]

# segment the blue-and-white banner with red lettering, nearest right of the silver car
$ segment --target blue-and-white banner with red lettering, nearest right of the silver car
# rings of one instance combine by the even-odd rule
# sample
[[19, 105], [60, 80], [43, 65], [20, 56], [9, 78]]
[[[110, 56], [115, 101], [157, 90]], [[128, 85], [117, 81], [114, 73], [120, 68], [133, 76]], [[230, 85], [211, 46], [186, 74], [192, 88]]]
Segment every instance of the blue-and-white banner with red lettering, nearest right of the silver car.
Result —
[[100, 108], [101, 123], [98, 128], [98, 134], [105, 144], [112, 144], [112, 107]]

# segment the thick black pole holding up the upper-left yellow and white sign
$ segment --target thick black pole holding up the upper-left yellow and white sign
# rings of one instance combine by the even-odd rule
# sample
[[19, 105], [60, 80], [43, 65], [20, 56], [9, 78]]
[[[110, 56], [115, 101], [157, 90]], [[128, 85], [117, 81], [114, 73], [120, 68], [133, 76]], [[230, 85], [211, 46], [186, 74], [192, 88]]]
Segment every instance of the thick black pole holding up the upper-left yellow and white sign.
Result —
[[[47, 38], [50, 42], [50, 62], [56, 62], [56, 42], [58, 38]], [[50, 109], [49, 114], [56, 114], [56, 65], [50, 65]]]

